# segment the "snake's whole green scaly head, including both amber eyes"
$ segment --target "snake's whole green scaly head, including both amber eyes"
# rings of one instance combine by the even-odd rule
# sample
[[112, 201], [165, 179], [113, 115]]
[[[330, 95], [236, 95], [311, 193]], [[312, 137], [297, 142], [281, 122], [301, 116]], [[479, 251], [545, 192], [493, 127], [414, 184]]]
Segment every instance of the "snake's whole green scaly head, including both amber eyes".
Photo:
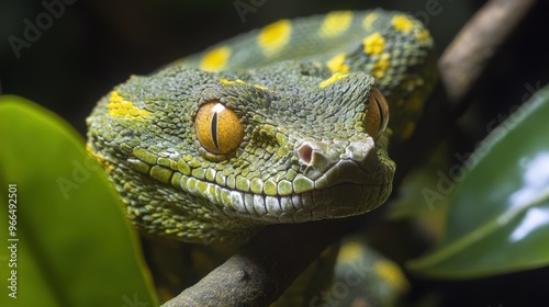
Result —
[[186, 241], [367, 213], [391, 193], [386, 102], [373, 77], [288, 61], [133, 77], [88, 118], [88, 148], [131, 219]]

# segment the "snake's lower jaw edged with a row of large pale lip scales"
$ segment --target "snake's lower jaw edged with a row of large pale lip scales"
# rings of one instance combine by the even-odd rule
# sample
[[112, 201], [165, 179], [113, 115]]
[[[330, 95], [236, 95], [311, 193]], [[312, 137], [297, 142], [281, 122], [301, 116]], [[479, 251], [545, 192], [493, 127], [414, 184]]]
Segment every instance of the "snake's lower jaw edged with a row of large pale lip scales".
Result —
[[293, 189], [285, 194], [239, 191], [181, 173], [171, 184], [229, 217], [258, 224], [294, 224], [360, 215], [379, 207], [391, 194], [394, 163], [379, 163], [374, 169], [340, 160], [313, 178], [298, 174]]

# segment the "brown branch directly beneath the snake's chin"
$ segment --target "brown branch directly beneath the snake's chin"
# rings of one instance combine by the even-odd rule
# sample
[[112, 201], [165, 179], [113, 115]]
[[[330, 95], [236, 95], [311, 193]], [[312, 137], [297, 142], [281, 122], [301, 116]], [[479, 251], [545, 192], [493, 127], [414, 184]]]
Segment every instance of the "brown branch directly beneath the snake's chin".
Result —
[[350, 219], [265, 228], [246, 247], [164, 306], [268, 306]]

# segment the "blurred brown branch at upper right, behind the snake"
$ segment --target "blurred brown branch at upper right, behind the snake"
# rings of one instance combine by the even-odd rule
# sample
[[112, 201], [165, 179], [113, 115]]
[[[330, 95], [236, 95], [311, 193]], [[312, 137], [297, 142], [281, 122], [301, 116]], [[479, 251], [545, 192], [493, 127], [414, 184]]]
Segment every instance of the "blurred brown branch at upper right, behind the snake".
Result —
[[[410, 169], [422, 162], [426, 148], [436, 148], [452, 123], [471, 103], [483, 72], [536, 0], [491, 0], [461, 29], [438, 60], [440, 81], [432, 94], [416, 133], [405, 144], [390, 148], [397, 161], [393, 184], [399, 186]], [[436, 128], [433, 128], [436, 127]]]

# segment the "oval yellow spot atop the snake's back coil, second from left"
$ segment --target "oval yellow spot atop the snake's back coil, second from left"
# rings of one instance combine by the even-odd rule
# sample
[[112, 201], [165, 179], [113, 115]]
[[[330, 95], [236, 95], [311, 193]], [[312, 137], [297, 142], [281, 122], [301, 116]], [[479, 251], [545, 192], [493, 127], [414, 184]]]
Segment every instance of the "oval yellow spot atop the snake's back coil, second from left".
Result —
[[281, 20], [264, 27], [258, 36], [258, 44], [266, 56], [272, 56], [290, 41], [292, 24], [289, 20]]

